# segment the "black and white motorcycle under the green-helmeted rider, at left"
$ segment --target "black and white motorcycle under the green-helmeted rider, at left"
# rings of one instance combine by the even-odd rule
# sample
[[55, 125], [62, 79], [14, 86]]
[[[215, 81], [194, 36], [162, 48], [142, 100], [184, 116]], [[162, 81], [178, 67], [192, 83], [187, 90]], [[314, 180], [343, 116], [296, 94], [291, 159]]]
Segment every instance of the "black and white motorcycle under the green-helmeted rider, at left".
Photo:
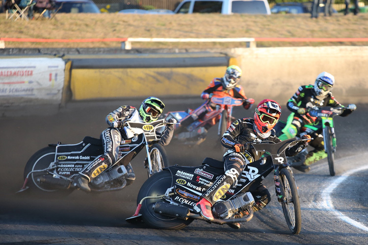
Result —
[[[152, 123], [138, 123], [126, 121], [127, 135], [119, 146], [118, 160], [90, 183], [91, 192], [118, 191], [126, 184], [127, 166], [131, 160], [143, 149], [146, 150], [144, 167], [148, 177], [169, 166], [165, 149], [157, 144], [160, 133], [157, 131], [167, 123], [158, 120]], [[129, 131], [129, 132], [128, 132]], [[79, 172], [96, 157], [104, 153], [101, 139], [89, 136], [74, 145], [50, 144], [34, 153], [26, 163], [24, 170], [25, 182], [20, 191], [28, 188], [43, 192], [72, 192], [71, 184]]]

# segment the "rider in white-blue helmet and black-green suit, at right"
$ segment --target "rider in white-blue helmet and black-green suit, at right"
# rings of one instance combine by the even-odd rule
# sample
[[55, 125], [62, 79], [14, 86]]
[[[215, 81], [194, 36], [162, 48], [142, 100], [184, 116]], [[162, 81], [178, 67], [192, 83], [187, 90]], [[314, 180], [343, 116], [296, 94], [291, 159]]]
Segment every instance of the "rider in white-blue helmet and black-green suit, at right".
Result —
[[[317, 76], [314, 85], [300, 86], [298, 88], [287, 103], [287, 107], [292, 113], [289, 115], [287, 126], [282, 130], [284, 134], [279, 136], [281, 140], [295, 137], [300, 132], [300, 128], [305, 124], [318, 123], [315, 122], [316, 117], [310, 115], [309, 108], [342, 106], [331, 93], [334, 84], [335, 77], [330, 73], [323, 72]], [[348, 110], [344, 110], [340, 116], [346, 117], [355, 111], [357, 107], [355, 104], [349, 104], [347, 108]], [[303, 151], [299, 155], [300, 159], [291, 165], [299, 171], [309, 172], [311, 170], [309, 167], [311, 164], [327, 157], [323, 146], [323, 135], [312, 134], [312, 137], [314, 140], [310, 145], [315, 149], [308, 154], [307, 150]]]

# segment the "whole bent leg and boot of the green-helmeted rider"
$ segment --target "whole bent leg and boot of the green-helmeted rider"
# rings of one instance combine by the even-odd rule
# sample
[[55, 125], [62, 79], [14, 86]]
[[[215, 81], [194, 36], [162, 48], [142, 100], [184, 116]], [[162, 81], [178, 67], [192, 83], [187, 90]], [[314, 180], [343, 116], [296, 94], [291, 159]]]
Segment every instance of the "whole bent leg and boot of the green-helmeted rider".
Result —
[[120, 132], [115, 128], [109, 127], [102, 132], [101, 139], [105, 148], [105, 154], [96, 157], [95, 160], [84, 167], [72, 183], [75, 187], [86, 192], [91, 191], [88, 183], [115, 164], [118, 158], [119, 145], [121, 142]]

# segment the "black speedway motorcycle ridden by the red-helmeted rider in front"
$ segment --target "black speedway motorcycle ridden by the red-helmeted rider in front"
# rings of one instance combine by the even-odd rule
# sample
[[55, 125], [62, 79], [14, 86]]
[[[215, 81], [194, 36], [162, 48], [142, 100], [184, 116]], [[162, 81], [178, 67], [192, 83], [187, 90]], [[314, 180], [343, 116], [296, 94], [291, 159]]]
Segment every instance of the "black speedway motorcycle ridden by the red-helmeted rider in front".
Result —
[[292, 138], [280, 143], [267, 141], [252, 144], [257, 151], [268, 152], [269, 155], [249, 163], [238, 184], [215, 202], [212, 206], [213, 221], [208, 221], [194, 210], [200, 196], [224, 174], [224, 163], [208, 157], [201, 166], [175, 165], [147, 179], [138, 193], [136, 212], [126, 221], [144, 221], [158, 229], [181, 229], [194, 220], [216, 224], [247, 222], [253, 218], [255, 201], [252, 192], [273, 172], [276, 195], [286, 222], [291, 233], [298, 234], [301, 230], [299, 195], [286, 161], [285, 149], [301, 141], [305, 140]]

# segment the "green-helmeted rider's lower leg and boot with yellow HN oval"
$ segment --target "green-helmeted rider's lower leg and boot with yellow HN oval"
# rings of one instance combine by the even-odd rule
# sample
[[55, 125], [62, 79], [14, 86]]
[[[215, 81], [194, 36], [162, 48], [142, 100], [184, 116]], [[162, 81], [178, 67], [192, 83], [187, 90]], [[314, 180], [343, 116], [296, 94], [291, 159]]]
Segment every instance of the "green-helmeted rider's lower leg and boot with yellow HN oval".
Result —
[[72, 185], [82, 191], [90, 192], [91, 188], [89, 188], [88, 183], [110, 166], [110, 158], [106, 155], [101, 155], [79, 172], [79, 175], [73, 180]]

